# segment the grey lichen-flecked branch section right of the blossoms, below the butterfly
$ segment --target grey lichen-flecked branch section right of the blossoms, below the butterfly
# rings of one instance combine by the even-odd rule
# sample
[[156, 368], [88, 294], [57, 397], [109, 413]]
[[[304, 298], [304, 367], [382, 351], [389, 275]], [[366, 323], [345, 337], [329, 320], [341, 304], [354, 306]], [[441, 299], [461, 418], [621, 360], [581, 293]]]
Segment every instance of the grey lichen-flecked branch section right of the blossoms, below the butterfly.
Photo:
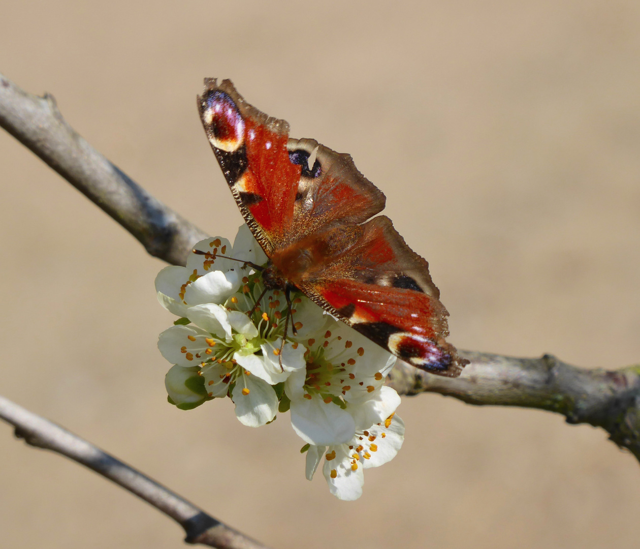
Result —
[[602, 427], [640, 461], [640, 365], [586, 370], [552, 355], [515, 358], [460, 351], [470, 361], [460, 377], [417, 370], [399, 362], [387, 384], [401, 395], [440, 393], [468, 404], [538, 408], [566, 422]]

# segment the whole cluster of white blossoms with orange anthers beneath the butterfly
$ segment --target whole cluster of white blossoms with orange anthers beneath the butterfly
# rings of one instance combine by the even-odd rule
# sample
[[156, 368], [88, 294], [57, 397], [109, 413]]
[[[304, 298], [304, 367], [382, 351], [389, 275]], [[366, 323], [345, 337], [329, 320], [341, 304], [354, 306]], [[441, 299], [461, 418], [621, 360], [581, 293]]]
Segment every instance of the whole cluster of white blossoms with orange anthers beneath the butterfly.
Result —
[[169, 401], [191, 409], [229, 397], [250, 427], [291, 411], [306, 443], [307, 478], [324, 455], [331, 493], [355, 500], [363, 470], [393, 459], [403, 443], [400, 397], [384, 385], [396, 357], [298, 292], [291, 296], [297, 333], [289, 326], [285, 334], [283, 292], [263, 293], [259, 270], [244, 261], [267, 263], [246, 225], [233, 246], [221, 237], [202, 240], [186, 267], [157, 275], [159, 301], [180, 317], [158, 341], [173, 364], [165, 377]]

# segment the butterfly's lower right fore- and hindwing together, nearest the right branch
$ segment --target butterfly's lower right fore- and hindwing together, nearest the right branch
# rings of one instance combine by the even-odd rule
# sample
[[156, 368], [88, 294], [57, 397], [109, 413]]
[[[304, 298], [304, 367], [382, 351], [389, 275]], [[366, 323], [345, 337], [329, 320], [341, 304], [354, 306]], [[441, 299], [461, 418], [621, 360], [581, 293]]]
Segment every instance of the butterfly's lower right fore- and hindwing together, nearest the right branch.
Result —
[[[445, 342], [447, 310], [428, 271], [385, 216], [310, 271], [301, 288], [320, 306], [413, 366], [455, 377], [466, 361]], [[339, 265], [339, 267], [336, 267]]]

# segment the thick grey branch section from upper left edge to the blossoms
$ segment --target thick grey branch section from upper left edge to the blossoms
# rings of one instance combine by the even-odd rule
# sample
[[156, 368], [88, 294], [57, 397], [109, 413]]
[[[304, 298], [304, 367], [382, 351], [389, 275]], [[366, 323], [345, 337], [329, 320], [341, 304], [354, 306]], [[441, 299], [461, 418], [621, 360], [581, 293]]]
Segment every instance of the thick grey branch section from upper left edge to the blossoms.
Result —
[[2, 74], [0, 126], [125, 227], [152, 256], [183, 265], [188, 250], [207, 238], [78, 135], [52, 95], [28, 94]]

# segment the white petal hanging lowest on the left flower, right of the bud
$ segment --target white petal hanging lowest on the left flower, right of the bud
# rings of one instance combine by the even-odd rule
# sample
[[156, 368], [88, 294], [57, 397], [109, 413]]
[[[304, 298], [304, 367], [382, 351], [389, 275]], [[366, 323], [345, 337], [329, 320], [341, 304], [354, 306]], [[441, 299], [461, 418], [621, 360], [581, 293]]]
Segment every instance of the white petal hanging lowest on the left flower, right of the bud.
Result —
[[[249, 389], [246, 395], [242, 392], [245, 388]], [[278, 412], [276, 391], [255, 375], [239, 375], [232, 398], [236, 404], [236, 417], [248, 427], [260, 427], [273, 420]]]

